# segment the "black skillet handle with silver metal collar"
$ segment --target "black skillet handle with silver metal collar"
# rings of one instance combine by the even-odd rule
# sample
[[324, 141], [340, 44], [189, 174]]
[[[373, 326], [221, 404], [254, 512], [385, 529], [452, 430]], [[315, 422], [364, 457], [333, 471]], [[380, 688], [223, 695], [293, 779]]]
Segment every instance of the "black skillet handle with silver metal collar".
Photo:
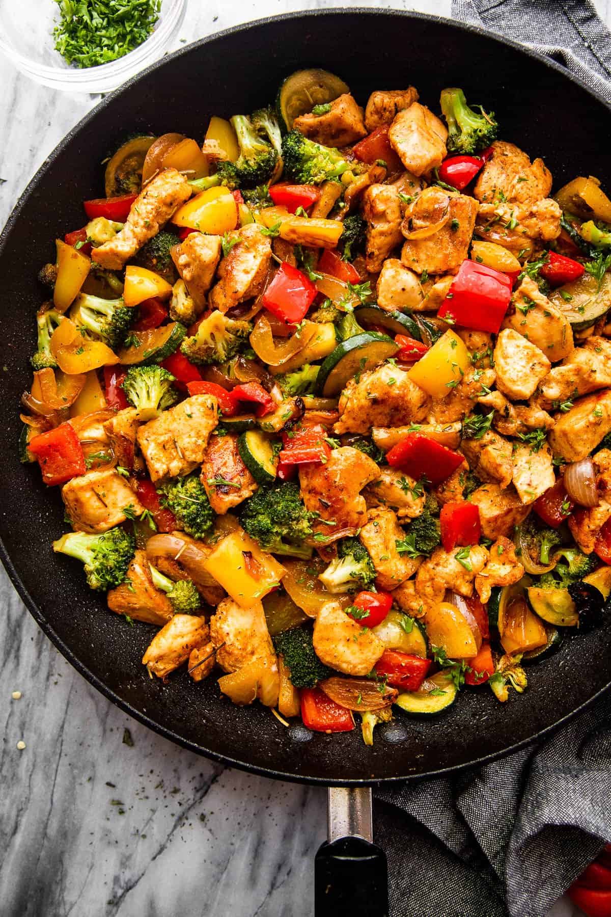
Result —
[[372, 843], [371, 790], [329, 790], [329, 841], [314, 861], [315, 917], [387, 917], [387, 858]]

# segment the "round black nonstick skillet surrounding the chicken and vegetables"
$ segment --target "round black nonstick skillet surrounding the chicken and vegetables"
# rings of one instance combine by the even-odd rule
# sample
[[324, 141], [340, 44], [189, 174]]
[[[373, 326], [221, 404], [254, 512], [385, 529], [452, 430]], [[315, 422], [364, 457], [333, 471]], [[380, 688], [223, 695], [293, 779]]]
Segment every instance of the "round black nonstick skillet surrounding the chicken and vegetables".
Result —
[[[337, 736], [286, 729], [265, 708], [221, 698], [213, 679], [195, 685], [185, 671], [168, 684], [147, 678], [140, 659], [150, 628], [127, 629], [88, 590], [80, 565], [53, 555], [50, 543], [66, 528], [60, 494], [16, 454], [33, 317], [44, 298], [38, 268], [54, 257], [56, 236], [82, 226], [82, 200], [104, 193], [108, 149], [135, 129], [201, 138], [211, 115], [266, 104], [282, 78], [304, 66], [337, 72], [361, 103], [373, 89], [412, 83], [420, 100], [438, 109], [442, 87], [460, 85], [469, 100], [496, 112], [503, 138], [546, 160], [555, 187], [581, 174], [611, 185], [610, 106], [561, 66], [481, 29], [413, 13], [312, 11], [235, 28], [170, 55], [83, 118], [29, 184], [0, 238], [0, 551], [45, 633], [126, 713], [232, 767], [354, 788], [482, 764], [542, 735], [611, 683], [609, 628], [565, 640], [556, 656], [529, 669], [529, 691], [506, 705], [491, 691], [464, 691], [441, 719], [399, 713], [393, 724], [378, 727], [373, 747], [363, 744], [359, 729]], [[333, 837], [367, 833], [358, 827], [363, 813], [355, 800], [344, 800], [346, 819], [335, 824]]]

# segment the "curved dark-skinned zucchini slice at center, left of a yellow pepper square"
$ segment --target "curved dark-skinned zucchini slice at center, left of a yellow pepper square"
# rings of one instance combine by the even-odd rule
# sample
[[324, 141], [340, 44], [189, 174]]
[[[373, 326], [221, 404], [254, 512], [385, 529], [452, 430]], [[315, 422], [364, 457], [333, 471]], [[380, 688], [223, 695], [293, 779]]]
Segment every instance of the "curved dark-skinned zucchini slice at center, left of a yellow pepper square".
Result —
[[333, 398], [357, 372], [372, 370], [388, 357], [394, 357], [397, 351], [398, 345], [390, 337], [375, 331], [348, 337], [322, 363], [316, 379], [318, 393]]

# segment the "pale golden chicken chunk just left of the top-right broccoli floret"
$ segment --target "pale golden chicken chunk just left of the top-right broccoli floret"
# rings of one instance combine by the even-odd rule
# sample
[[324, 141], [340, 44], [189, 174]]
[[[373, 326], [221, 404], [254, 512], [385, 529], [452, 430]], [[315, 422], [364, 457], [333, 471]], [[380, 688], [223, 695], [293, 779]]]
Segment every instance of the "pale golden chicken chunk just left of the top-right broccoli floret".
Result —
[[447, 154], [447, 137], [443, 122], [420, 102], [398, 112], [388, 130], [390, 146], [414, 175], [423, 175], [441, 166]]

